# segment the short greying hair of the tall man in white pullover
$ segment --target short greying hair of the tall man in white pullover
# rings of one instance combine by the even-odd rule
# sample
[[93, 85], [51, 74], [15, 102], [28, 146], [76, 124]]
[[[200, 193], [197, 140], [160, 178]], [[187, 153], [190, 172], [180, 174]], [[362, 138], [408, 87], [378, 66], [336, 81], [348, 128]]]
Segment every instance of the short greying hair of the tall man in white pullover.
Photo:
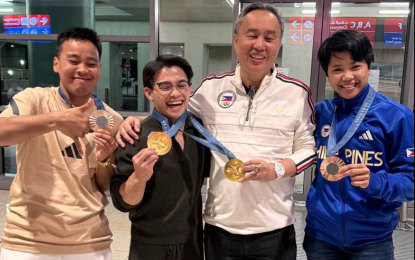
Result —
[[275, 17], [277, 17], [278, 22], [280, 23], [280, 27], [281, 27], [281, 39], [282, 39], [284, 37], [284, 31], [285, 31], [285, 20], [281, 16], [281, 14], [278, 12], [278, 9], [270, 3], [256, 2], [245, 7], [242, 10], [242, 12], [239, 14], [238, 18], [236, 19], [235, 25], [233, 27], [233, 33], [238, 35], [239, 28], [241, 27], [242, 21], [244, 20], [245, 16], [257, 10], [268, 11], [272, 13], [273, 15], [275, 15]]

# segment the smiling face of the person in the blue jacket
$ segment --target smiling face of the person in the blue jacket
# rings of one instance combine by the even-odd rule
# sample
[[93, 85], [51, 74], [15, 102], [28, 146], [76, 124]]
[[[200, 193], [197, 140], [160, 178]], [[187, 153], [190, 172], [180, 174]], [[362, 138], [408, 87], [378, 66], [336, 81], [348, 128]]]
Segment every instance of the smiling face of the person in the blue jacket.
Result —
[[350, 52], [336, 52], [331, 56], [328, 80], [340, 97], [355, 98], [366, 87], [369, 76], [370, 70], [366, 61], [354, 61]]

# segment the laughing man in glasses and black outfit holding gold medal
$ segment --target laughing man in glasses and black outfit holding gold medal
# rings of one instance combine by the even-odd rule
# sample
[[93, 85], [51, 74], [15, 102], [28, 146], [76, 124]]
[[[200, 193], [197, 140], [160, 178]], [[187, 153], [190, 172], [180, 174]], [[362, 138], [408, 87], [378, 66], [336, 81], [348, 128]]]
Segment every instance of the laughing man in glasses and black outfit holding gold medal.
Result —
[[[203, 259], [201, 188], [210, 152], [187, 138], [201, 137], [187, 113], [192, 77], [189, 63], [173, 55], [161, 55], [143, 70], [155, 110], [136, 129], [139, 140], [118, 150], [111, 182], [114, 206], [130, 213], [130, 260]], [[148, 147], [153, 132], [171, 138], [163, 156]]]

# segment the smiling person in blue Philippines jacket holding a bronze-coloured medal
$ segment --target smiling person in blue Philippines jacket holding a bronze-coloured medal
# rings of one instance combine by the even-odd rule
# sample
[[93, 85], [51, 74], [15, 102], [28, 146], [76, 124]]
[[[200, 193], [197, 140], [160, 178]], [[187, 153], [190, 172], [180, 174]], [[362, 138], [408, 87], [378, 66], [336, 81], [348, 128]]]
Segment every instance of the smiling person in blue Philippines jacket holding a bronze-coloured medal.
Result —
[[[304, 249], [309, 260], [394, 260], [397, 209], [414, 200], [414, 114], [368, 84], [365, 34], [336, 32], [318, 55], [335, 96], [316, 105]], [[338, 164], [325, 169], [328, 158]]]

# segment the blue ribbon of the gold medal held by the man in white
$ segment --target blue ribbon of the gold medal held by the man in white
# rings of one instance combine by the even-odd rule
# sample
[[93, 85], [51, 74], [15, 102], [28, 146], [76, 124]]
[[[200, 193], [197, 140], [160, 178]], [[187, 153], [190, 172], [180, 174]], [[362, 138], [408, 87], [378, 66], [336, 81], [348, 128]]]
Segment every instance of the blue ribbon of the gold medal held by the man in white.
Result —
[[185, 135], [189, 136], [196, 142], [199, 142], [204, 146], [210, 148], [212, 151], [226, 155], [229, 160], [236, 159], [236, 156], [223, 144], [221, 144], [215, 137], [213, 137], [213, 135], [211, 135], [194, 117], [191, 116], [190, 121], [196, 130], [206, 138], [206, 140], [183, 132]]

